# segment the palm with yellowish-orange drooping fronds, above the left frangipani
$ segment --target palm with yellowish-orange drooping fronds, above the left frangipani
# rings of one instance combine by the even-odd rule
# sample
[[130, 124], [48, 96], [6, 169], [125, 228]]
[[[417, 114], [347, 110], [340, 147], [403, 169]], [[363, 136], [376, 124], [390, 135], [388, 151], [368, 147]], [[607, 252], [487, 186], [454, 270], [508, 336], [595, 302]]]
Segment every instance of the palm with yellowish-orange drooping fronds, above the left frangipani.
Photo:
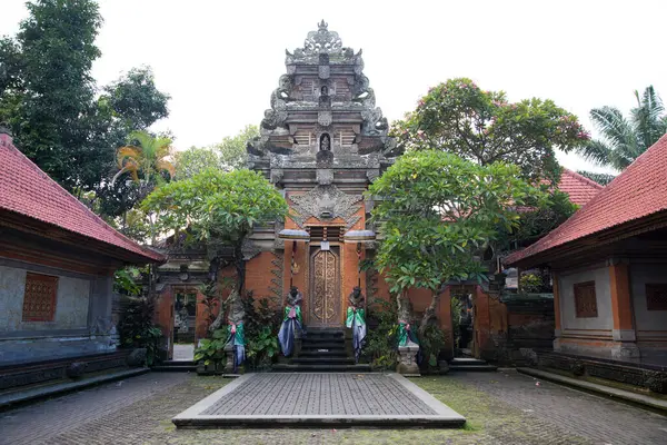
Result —
[[118, 172], [111, 179], [111, 184], [129, 174], [132, 180], [139, 182], [145, 191], [162, 180], [162, 172], [167, 171], [172, 178], [175, 166], [169, 160], [171, 156], [171, 139], [165, 137], [152, 137], [146, 131], [132, 131], [130, 144], [120, 147], [116, 155]]

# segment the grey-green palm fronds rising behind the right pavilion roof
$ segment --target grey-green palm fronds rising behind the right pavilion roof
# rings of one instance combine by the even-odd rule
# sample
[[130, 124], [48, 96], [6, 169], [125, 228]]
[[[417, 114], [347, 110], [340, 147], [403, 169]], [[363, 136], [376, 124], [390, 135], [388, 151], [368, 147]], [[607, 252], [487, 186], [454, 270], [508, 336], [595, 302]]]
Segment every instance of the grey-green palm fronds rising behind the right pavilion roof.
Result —
[[637, 107], [629, 119], [614, 107], [594, 108], [590, 120], [601, 138], [580, 149], [585, 158], [596, 164], [623, 170], [667, 132], [667, 116], [663, 100], [653, 86], [641, 97], [635, 90]]

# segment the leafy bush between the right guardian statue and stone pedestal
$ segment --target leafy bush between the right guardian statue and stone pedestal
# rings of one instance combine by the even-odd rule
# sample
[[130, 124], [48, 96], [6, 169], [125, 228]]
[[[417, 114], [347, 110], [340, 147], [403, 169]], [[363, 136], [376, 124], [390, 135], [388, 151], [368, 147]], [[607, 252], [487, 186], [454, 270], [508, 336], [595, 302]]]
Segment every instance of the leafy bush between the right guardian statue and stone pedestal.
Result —
[[375, 298], [368, 305], [366, 346], [361, 352], [375, 369], [394, 369], [397, 363], [396, 301]]

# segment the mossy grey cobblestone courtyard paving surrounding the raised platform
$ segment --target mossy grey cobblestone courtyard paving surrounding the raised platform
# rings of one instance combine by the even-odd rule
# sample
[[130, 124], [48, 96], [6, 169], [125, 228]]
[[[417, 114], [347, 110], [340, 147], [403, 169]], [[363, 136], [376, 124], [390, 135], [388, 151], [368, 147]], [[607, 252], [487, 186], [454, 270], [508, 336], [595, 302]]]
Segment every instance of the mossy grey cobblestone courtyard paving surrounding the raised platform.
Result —
[[414, 379], [468, 418], [465, 429], [176, 431], [176, 414], [228, 380], [147, 374], [0, 414], [2, 444], [667, 443], [667, 418], [515, 372]]

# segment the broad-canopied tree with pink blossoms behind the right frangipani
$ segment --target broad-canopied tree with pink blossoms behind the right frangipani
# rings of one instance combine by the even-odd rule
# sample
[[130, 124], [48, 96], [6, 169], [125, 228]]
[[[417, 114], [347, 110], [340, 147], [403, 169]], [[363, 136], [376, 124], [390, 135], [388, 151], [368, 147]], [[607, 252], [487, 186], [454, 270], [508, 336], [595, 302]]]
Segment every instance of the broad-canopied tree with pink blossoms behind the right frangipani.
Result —
[[577, 117], [551, 100], [510, 103], [505, 92], [466, 78], [431, 88], [391, 134], [406, 150], [444, 150], [482, 166], [510, 162], [525, 178], [552, 184], [560, 178], [555, 149], [567, 152], [589, 139]]

